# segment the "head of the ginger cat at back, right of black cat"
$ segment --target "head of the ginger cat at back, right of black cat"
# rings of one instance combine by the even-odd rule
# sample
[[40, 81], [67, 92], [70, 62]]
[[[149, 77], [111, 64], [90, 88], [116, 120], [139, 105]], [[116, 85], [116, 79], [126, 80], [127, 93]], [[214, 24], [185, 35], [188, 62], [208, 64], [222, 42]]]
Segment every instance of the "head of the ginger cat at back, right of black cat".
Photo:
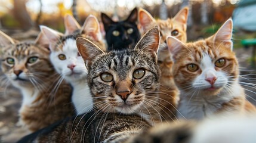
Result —
[[167, 36], [174, 36], [182, 42], [187, 42], [187, 7], [180, 10], [175, 17], [167, 20], [155, 20], [146, 10], [142, 8], [138, 12], [138, 20], [141, 24], [142, 33], [146, 32], [153, 26], [158, 26], [161, 33], [161, 45], [159, 46], [159, 61], [168, 61], [171, 57], [167, 45]]

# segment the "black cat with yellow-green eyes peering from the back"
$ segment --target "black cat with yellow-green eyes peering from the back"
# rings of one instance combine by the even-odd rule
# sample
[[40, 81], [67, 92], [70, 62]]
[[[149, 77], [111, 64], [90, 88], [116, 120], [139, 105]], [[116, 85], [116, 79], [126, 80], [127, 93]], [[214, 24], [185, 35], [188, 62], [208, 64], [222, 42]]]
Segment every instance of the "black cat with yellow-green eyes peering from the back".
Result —
[[134, 8], [128, 18], [123, 21], [113, 21], [106, 14], [101, 13], [101, 20], [106, 31], [107, 50], [134, 48], [140, 40], [137, 27], [138, 10]]

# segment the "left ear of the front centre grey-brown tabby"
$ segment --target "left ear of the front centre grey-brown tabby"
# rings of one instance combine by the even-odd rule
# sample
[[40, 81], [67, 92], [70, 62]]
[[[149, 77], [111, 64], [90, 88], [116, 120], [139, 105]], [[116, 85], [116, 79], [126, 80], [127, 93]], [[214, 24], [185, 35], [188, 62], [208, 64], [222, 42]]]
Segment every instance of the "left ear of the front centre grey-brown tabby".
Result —
[[89, 67], [91, 61], [100, 54], [103, 54], [100, 48], [97, 45], [92, 43], [86, 38], [76, 38], [76, 46], [78, 47], [78, 52], [85, 61], [85, 66]]

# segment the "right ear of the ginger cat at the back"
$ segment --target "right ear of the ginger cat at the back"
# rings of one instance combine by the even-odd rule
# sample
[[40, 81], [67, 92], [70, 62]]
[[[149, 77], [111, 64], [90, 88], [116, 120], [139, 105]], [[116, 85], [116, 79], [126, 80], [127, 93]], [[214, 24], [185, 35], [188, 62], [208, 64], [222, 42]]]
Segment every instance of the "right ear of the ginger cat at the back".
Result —
[[173, 20], [178, 21], [182, 24], [183, 30], [187, 30], [187, 16], [189, 15], [189, 7], [184, 7], [175, 15]]

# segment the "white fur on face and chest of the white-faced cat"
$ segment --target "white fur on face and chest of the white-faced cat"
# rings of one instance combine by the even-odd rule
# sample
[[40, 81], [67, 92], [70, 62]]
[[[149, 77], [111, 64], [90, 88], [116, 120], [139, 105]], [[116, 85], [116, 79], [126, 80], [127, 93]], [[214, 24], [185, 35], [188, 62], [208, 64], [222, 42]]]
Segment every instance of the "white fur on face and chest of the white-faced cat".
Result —
[[[59, 54], [66, 55], [66, 60], [60, 60]], [[88, 71], [82, 57], [78, 57], [75, 39], [67, 39], [63, 45], [63, 51], [51, 52], [50, 59], [55, 70], [73, 86], [72, 102], [76, 113], [83, 114], [91, 110], [93, 102], [86, 79]], [[75, 74], [72, 74], [72, 70], [67, 67], [69, 64], [76, 65], [73, 70]]]

